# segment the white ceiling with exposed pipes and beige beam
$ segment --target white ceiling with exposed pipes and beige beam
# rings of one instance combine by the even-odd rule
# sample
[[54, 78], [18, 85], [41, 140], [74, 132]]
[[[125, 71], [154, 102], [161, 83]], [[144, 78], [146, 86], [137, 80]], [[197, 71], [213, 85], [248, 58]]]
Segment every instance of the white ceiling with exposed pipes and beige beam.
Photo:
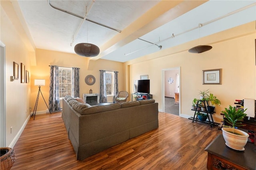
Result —
[[[130, 39], [127, 40], [125, 34], [128, 34], [129, 26], [136, 23], [136, 20], [156, 7], [159, 2], [158, 0], [97, 0], [96, 2], [50, 0], [50, 4], [55, 8], [81, 18], [85, 17], [87, 6], [88, 20], [120, 30], [119, 33], [92, 22], [82, 23], [81, 18], [52, 8], [48, 0], [18, 0], [36, 48], [75, 53], [74, 46], [77, 43], [88, 42], [100, 47], [100, 54], [96, 58], [120, 62], [159, 51], [161, 50], [158, 48], [159, 45], [162, 45], [162, 49], [166, 49], [198, 39], [199, 36], [208, 36], [256, 20], [256, 0], [210, 0], [188, 12], [182, 7], [182, 3], [186, 1], [180, 1], [177, 8], [168, 10], [169, 13], [159, 14], [151, 21], [152, 25], [158, 23], [154, 25], [156, 29], [152, 29], [153, 26], [141, 29], [143, 31], [134, 30], [134, 34], [130, 33]], [[89, 9], [90, 4], [93, 5]], [[153, 16], [158, 15], [158, 11], [154, 11]], [[164, 15], [165, 17], [170, 15], [169, 19], [164, 20]], [[217, 20], [214, 21], [215, 19]], [[200, 23], [203, 26], [199, 29]], [[144, 27], [146, 26], [148, 25], [145, 24]], [[72, 43], [76, 32], [78, 34]], [[112, 40], [115, 40], [114, 43], [111, 42]]]

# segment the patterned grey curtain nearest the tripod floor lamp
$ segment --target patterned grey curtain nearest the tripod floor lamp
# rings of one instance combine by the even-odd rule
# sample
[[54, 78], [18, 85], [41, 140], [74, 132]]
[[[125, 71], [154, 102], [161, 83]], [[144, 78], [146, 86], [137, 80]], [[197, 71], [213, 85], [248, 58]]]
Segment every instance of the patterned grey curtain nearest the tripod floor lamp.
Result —
[[50, 66], [49, 109], [51, 112], [60, 111], [59, 67], [56, 65]]

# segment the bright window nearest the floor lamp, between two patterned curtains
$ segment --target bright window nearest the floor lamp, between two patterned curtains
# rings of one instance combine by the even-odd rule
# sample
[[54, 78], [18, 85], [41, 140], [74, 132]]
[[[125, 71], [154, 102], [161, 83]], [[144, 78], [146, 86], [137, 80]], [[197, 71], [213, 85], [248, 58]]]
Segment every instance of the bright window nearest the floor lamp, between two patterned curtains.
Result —
[[72, 68], [59, 67], [59, 97], [72, 96]]

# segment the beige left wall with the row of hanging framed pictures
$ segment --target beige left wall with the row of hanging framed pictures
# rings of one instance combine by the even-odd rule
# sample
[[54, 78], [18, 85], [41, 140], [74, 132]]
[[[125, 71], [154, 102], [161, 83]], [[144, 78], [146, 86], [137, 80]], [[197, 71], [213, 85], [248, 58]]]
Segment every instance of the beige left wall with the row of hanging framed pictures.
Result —
[[[26, 43], [24, 43], [22, 36], [13, 25], [5, 10], [6, 8], [2, 8], [1, 2], [0, 41], [6, 45], [6, 146], [10, 146], [13, 144], [14, 139], [17, 138], [16, 135], [18, 135], [19, 130], [29, 117], [30, 83], [21, 83], [20, 63], [24, 63], [25, 69], [30, 73], [31, 71], [29, 51]], [[10, 10], [9, 8], [8, 12]], [[19, 79], [10, 81], [10, 76], [13, 75], [14, 61], [19, 65]], [[12, 133], [10, 130], [11, 127]]]

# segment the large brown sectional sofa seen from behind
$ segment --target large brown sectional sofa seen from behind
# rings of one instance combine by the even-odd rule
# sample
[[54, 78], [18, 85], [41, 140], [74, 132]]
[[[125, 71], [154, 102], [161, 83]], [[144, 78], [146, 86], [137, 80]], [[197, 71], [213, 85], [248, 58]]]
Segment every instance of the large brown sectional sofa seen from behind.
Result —
[[77, 160], [158, 128], [158, 103], [153, 99], [104, 106], [70, 96], [62, 101], [62, 119]]

